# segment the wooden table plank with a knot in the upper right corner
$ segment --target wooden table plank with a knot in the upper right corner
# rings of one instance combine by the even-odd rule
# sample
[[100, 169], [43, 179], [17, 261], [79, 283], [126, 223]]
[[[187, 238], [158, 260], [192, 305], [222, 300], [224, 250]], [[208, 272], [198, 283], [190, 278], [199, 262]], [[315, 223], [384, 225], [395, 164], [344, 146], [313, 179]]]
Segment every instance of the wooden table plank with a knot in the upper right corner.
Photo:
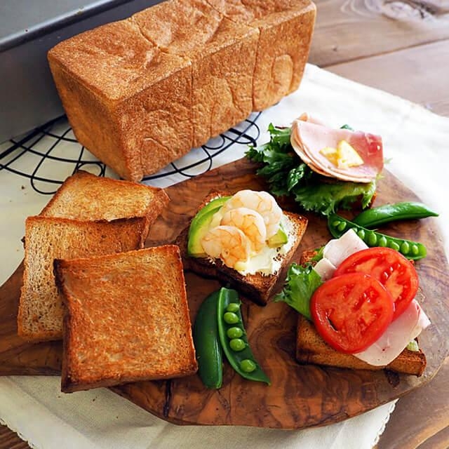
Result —
[[[320, 67], [449, 38], [449, 14], [441, 11], [440, 15], [426, 13], [422, 17], [406, 1], [388, 4], [385, 0], [316, 0], [315, 3], [316, 26], [309, 62]], [[388, 14], [393, 17], [396, 14], [397, 20]]]

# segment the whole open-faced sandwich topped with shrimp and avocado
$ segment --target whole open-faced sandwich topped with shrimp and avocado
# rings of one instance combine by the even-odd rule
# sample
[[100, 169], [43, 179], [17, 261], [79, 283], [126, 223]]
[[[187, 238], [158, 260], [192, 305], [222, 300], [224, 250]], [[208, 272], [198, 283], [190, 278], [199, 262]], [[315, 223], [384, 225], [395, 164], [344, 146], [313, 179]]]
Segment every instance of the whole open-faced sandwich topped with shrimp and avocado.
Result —
[[267, 192], [212, 192], [178, 237], [186, 269], [234, 286], [267, 304], [307, 227]]

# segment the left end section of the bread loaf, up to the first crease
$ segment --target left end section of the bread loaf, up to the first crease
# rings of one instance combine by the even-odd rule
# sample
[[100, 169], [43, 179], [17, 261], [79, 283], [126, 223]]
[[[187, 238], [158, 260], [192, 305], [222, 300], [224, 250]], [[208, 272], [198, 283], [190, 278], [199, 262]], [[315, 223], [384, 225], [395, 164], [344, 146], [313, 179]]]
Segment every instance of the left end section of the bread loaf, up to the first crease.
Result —
[[121, 177], [141, 180], [192, 147], [191, 62], [132, 21], [63, 41], [48, 62], [76, 139]]

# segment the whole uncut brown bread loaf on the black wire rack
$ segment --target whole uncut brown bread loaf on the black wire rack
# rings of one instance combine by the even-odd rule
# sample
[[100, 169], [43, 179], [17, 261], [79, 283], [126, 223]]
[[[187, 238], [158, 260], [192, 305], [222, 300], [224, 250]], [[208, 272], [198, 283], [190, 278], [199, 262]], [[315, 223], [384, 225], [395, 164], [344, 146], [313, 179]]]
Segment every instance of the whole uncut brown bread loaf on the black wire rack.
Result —
[[79, 142], [140, 180], [297, 88], [314, 4], [252, 1], [244, 11], [168, 0], [52, 48], [48, 62]]

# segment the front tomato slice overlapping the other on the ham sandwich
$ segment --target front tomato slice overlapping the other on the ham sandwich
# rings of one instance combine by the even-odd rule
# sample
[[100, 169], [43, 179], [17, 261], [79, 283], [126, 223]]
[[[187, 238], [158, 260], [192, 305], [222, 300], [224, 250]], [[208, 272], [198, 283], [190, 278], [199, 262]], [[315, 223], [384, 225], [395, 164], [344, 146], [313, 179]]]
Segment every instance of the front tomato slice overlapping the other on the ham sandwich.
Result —
[[342, 274], [315, 290], [310, 311], [318, 333], [331, 347], [354, 354], [373, 344], [393, 317], [391, 295], [364, 273]]

